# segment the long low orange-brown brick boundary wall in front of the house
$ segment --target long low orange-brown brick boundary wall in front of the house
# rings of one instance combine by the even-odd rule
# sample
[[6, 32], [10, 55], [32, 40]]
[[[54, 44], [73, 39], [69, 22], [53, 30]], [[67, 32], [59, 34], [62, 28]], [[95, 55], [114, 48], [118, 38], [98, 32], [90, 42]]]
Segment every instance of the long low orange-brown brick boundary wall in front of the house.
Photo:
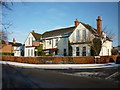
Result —
[[[17, 56], [1, 56], [3, 61], [12, 61], [29, 64], [93, 64], [94, 56], [85, 57], [17, 57]], [[108, 63], [110, 60], [116, 62], [117, 56], [100, 56], [96, 59], [96, 63]]]

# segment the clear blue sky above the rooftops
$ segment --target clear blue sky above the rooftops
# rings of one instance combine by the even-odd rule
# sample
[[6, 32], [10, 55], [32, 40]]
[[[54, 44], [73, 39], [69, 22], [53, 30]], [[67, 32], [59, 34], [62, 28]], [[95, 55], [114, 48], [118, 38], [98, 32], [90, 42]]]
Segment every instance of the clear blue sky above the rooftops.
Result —
[[102, 18], [105, 31], [115, 35], [113, 46], [118, 45], [118, 3], [117, 2], [13, 2], [12, 11], [4, 10], [3, 22], [10, 22], [9, 41], [13, 38], [24, 43], [28, 34], [55, 30], [80, 22], [96, 28], [96, 19]]

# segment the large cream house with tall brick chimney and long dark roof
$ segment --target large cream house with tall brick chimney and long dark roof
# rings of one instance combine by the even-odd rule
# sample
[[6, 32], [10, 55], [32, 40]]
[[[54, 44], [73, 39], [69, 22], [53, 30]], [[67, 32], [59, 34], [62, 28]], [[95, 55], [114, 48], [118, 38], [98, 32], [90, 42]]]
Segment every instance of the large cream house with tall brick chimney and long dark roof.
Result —
[[[102, 31], [101, 17], [97, 18], [97, 29], [79, 22], [74, 26], [47, 31], [42, 34], [43, 50], [46, 55], [91, 56], [91, 45], [94, 38], [101, 39], [100, 56], [111, 55], [112, 40]], [[97, 44], [96, 44], [97, 45]]]

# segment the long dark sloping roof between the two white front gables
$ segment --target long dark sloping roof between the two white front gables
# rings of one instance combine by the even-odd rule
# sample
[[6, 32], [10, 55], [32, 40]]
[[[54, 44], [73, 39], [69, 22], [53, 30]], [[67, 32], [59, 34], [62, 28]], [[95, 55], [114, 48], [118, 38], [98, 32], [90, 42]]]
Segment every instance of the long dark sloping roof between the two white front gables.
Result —
[[67, 27], [67, 28], [61, 28], [61, 29], [57, 29], [57, 30], [47, 31], [42, 34], [42, 38], [66, 35], [66, 34], [70, 35], [75, 30], [75, 28], [76, 27], [73, 26], [73, 27]]

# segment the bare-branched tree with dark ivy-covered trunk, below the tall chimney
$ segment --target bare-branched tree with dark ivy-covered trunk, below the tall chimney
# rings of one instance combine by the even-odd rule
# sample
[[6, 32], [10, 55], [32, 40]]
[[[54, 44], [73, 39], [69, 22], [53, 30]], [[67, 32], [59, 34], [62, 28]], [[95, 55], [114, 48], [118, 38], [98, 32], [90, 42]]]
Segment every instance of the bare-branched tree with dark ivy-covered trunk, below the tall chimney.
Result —
[[102, 35], [93, 35], [91, 32], [87, 34], [84, 42], [87, 42], [88, 46], [91, 48], [91, 51], [94, 53], [93, 55], [99, 55], [102, 45], [107, 40], [112, 40], [115, 36], [111, 31], [104, 32], [106, 28], [107, 27], [103, 29]]

